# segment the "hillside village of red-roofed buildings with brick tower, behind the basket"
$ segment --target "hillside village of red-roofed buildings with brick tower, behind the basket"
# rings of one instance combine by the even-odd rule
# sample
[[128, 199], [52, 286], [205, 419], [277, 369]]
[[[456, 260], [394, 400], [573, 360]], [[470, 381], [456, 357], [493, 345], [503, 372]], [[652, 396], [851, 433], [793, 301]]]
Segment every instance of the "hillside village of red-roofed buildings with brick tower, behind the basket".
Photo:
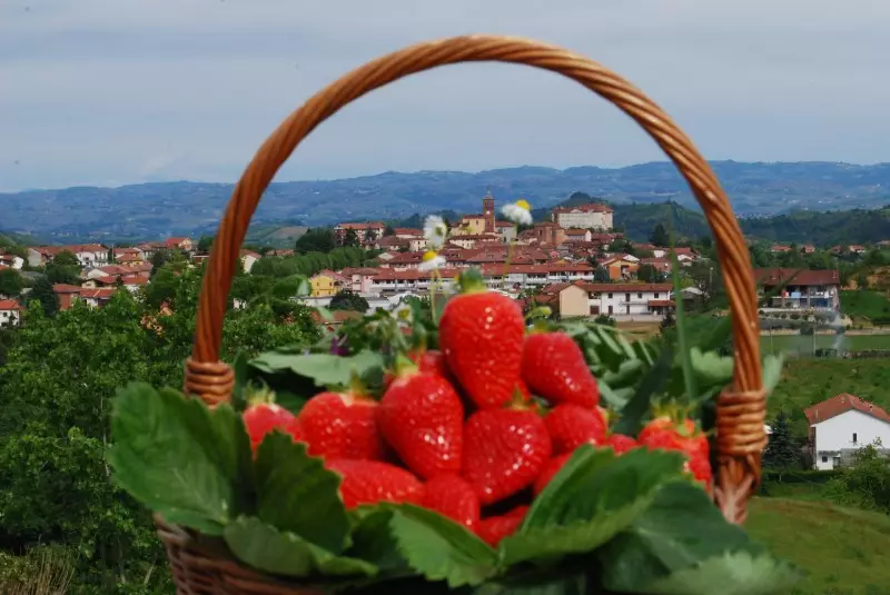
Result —
[[[550, 220], [530, 226], [500, 220], [491, 194], [481, 200], [481, 212], [465, 215], [451, 227], [447, 241], [437, 250], [444, 264], [425, 270], [427, 240], [417, 228], [390, 228], [382, 221], [342, 222], [333, 228], [337, 246], [362, 247], [374, 259], [362, 267], [322, 269], [309, 278], [310, 295], [303, 298], [313, 306], [327, 306], [337, 294], [347, 290], [367, 300], [369, 310], [393, 309], [406, 296], [421, 296], [431, 284], [449, 286], [461, 270], [478, 268], [488, 287], [504, 291], [524, 304], [546, 305], [555, 315], [568, 317], [609, 316], [616, 321], [660, 321], [675, 308], [676, 296], [669, 281], [671, 259], [666, 241], [639, 244], [615, 231], [613, 209], [591, 202], [557, 207]], [[664, 235], [664, 230], [661, 230]], [[72, 255], [80, 267], [79, 282], [55, 284], [59, 309], [75, 301], [102, 306], [118, 290], [138, 292], [152, 276], [152, 261], [159, 254], [177, 251], [190, 266], [200, 266], [206, 250], [187, 237], [144, 242], [128, 247], [99, 244], [72, 246], [31, 246], [27, 252], [0, 255], [0, 269], [12, 268], [36, 278], [42, 267], [62, 254]], [[811, 254], [814, 248], [795, 248]], [[864, 247], [837, 247], [835, 251], [864, 251]], [[775, 254], [789, 246], [772, 247]], [[264, 258], [287, 258], [293, 249], [241, 250], [244, 272], [249, 274]], [[678, 262], [689, 268], [708, 265], [706, 257], [694, 248], [675, 248]], [[711, 267], [713, 276], [713, 267]], [[839, 311], [840, 278], [837, 270], [758, 269], [764, 291], [778, 286], [783, 290], [764, 305], [772, 311]], [[683, 289], [682, 299], [695, 304], [704, 297], [695, 284]], [[27, 299], [0, 295], [0, 325], [18, 324]]]

